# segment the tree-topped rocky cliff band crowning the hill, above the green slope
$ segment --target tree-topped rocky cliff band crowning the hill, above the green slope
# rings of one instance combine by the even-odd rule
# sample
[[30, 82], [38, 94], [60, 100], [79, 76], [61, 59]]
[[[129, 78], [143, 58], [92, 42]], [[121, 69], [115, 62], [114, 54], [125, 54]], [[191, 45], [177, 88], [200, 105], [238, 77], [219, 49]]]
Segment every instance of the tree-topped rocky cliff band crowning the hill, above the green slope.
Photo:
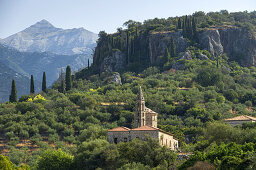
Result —
[[168, 63], [163, 69], [175, 68], [176, 61], [184, 59], [186, 52], [190, 55], [185, 58], [200, 58], [203, 50], [208, 51], [204, 53], [207, 58], [226, 54], [230, 61], [254, 66], [255, 15], [255, 12], [196, 12], [191, 16], [155, 18], [143, 23], [127, 21], [126, 29], [119, 29], [115, 34], [100, 32], [93, 57], [94, 71], [138, 72], [148, 66], [163, 67], [168, 53]]

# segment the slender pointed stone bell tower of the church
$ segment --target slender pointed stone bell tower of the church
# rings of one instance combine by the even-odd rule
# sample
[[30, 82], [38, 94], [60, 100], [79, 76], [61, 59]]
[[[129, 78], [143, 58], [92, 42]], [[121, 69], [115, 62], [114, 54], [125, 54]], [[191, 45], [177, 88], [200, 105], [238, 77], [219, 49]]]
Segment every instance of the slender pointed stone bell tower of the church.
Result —
[[146, 112], [145, 112], [145, 99], [142, 93], [140, 86], [137, 102], [136, 102], [136, 111], [134, 114], [134, 128], [145, 126], [146, 125]]

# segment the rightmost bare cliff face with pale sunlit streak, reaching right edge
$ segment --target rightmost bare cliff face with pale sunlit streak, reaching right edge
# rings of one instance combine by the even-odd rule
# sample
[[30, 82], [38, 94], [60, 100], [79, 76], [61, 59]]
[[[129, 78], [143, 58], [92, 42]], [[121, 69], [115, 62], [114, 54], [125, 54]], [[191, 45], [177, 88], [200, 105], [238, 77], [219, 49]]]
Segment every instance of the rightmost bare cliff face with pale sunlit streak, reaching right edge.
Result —
[[256, 38], [245, 28], [221, 27], [207, 29], [198, 36], [203, 49], [212, 56], [226, 53], [243, 66], [254, 66], [256, 59]]

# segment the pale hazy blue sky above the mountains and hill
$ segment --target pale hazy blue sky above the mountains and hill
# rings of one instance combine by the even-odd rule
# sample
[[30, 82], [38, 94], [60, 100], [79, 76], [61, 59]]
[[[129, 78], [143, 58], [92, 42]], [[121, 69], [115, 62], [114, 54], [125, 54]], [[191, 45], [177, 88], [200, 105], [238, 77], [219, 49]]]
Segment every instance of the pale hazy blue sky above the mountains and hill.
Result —
[[195, 11], [256, 10], [256, 0], [0, 0], [0, 38], [46, 19], [55, 27], [108, 33], [129, 20], [144, 21]]

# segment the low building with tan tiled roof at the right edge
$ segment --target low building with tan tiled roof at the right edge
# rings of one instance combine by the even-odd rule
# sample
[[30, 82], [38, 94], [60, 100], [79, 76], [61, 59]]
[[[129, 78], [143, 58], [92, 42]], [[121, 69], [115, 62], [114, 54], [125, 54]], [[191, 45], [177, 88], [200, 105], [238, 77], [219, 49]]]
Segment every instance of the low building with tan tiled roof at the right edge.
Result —
[[241, 115], [233, 118], [224, 119], [224, 122], [229, 123], [231, 126], [242, 125], [243, 123], [255, 122], [255, 121], [256, 121], [255, 117], [251, 117], [247, 115]]

